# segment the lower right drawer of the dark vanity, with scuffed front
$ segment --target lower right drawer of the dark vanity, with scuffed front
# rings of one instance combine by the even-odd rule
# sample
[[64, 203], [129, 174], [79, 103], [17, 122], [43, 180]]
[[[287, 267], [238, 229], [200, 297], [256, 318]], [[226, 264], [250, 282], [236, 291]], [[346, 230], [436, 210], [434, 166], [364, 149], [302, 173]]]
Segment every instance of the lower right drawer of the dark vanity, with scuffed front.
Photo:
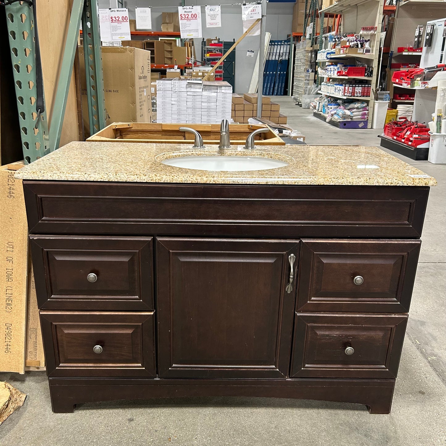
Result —
[[407, 316], [296, 313], [294, 377], [395, 378]]

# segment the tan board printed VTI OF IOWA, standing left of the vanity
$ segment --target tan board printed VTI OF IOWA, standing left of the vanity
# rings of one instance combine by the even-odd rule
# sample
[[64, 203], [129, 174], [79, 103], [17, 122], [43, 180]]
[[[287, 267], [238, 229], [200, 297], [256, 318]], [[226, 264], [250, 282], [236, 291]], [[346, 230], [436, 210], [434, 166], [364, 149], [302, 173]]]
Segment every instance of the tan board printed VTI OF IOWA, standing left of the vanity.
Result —
[[28, 223], [22, 180], [0, 167], [0, 371], [25, 372]]

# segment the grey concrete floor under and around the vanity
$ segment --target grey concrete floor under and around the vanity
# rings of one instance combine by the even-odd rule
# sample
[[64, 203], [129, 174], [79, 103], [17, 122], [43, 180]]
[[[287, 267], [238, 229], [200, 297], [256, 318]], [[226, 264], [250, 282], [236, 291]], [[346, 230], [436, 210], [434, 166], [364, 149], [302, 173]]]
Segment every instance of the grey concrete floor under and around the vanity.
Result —
[[[339, 130], [289, 98], [277, 102], [307, 144], [379, 146], [378, 130]], [[0, 444], [446, 445], [446, 165], [396, 156], [439, 185], [430, 192], [390, 415], [370, 415], [352, 404], [226, 397], [86, 404], [72, 414], [54, 414], [45, 373], [2, 373], [0, 380], [28, 397], [0, 426]]]

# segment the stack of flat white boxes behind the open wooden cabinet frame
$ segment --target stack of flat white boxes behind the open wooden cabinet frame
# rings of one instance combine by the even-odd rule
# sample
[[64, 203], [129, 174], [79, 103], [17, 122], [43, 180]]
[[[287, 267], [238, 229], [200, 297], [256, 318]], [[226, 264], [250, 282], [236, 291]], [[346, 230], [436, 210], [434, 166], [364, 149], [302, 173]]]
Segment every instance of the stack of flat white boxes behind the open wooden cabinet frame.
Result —
[[231, 120], [232, 87], [201, 79], [158, 79], [157, 122], [220, 124]]

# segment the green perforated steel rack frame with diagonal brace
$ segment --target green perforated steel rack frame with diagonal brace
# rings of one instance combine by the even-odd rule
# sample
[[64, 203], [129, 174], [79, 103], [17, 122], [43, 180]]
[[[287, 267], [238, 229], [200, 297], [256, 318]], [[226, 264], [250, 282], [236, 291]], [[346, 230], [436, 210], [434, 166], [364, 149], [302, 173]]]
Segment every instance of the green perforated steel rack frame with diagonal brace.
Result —
[[97, 0], [74, 0], [73, 2], [50, 125], [48, 125], [46, 112], [38, 116], [35, 108], [37, 88], [33, 8], [25, 2], [15, 2], [5, 8], [23, 157], [25, 164], [29, 164], [58, 149], [81, 15], [83, 29], [88, 29], [88, 33], [84, 33], [83, 44], [86, 55], [85, 66], [88, 67], [86, 78], [90, 125], [96, 131], [105, 127], [98, 6]]

